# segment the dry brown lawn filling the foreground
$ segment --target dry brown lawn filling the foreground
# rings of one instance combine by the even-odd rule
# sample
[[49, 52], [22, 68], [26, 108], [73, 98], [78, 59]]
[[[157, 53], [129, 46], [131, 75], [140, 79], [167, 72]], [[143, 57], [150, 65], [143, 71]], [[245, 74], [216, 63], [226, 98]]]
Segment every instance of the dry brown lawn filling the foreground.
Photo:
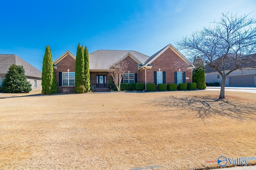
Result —
[[252, 93], [33, 94], [0, 93], [0, 169], [192, 170], [256, 157]]

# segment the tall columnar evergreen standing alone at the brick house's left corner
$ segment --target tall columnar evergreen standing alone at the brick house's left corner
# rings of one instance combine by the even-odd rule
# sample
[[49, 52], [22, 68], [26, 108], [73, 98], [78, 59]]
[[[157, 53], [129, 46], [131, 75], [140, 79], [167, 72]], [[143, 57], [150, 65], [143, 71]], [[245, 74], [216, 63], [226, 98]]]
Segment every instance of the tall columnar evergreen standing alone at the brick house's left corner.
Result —
[[58, 92], [57, 83], [53, 72], [52, 52], [49, 45], [47, 45], [44, 53], [41, 84], [43, 95]]

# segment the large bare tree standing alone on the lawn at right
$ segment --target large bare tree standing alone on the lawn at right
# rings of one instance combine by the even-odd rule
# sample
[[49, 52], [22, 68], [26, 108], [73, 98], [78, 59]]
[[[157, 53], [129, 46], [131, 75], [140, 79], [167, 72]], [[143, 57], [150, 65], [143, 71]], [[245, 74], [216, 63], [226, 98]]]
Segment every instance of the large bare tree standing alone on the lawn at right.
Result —
[[222, 13], [214, 27], [204, 27], [183, 37], [176, 45], [184, 50], [190, 59], [200, 57], [205, 64], [222, 76], [220, 99], [225, 98], [225, 82], [234, 70], [256, 68], [256, 20], [248, 15], [240, 16]]

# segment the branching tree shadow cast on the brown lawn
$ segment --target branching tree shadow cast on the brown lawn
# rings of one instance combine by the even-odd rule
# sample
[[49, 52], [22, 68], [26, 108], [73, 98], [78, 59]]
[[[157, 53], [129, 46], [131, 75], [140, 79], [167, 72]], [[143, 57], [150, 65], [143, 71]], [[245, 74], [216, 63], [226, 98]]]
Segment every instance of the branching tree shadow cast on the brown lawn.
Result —
[[152, 101], [156, 106], [165, 106], [170, 110], [184, 110], [184, 114], [188, 112], [196, 112], [201, 119], [213, 117], [214, 115], [222, 115], [240, 120], [255, 120], [256, 104], [246, 102], [242, 99], [217, 99], [213, 96], [186, 96], [177, 97], [170, 96], [160, 100]]

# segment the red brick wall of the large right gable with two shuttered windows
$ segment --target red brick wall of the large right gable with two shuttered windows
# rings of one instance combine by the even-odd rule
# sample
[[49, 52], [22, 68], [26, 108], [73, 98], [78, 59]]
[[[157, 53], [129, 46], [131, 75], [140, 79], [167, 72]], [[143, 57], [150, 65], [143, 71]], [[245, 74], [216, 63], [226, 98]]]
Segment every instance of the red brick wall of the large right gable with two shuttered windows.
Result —
[[[176, 63], [181, 63], [177, 65]], [[165, 71], [166, 72], [166, 84], [174, 83], [174, 72], [180, 71], [186, 72], [186, 77], [189, 77], [189, 80], [186, 80], [186, 83], [192, 82], [192, 73], [191, 70], [186, 68], [186, 64], [182, 64], [184, 61], [172, 51], [172, 49], [167, 49], [160, 55], [152, 64], [152, 69], [147, 69], [147, 83], [154, 83], [154, 71]]]

